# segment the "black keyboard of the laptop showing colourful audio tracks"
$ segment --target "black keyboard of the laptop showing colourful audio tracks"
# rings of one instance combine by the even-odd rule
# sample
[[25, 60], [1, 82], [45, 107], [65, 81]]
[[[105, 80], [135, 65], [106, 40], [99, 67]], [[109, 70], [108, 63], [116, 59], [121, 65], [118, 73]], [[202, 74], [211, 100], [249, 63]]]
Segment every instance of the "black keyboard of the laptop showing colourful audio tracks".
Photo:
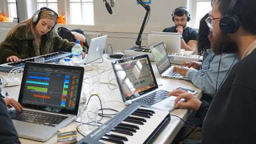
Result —
[[39, 111], [27, 111], [25, 109], [23, 109], [21, 113], [15, 110], [9, 111], [9, 115], [12, 119], [17, 121], [25, 121], [28, 123], [36, 123], [39, 125], [47, 125], [51, 127], [55, 127], [57, 124], [61, 123], [61, 121], [67, 118], [67, 116], [63, 115], [41, 113]]

